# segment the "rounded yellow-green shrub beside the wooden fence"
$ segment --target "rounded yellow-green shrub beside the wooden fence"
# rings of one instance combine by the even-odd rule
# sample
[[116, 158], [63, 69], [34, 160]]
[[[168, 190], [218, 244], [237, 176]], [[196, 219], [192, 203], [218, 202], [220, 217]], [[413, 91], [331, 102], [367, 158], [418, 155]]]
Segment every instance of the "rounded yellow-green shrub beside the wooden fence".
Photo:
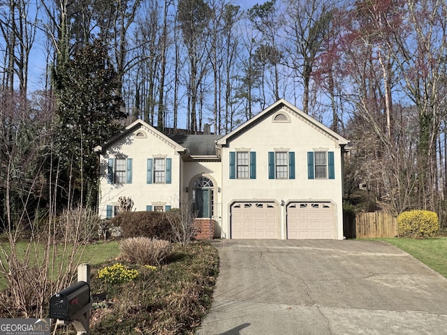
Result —
[[399, 236], [424, 239], [439, 232], [438, 214], [434, 211], [404, 211], [397, 216]]

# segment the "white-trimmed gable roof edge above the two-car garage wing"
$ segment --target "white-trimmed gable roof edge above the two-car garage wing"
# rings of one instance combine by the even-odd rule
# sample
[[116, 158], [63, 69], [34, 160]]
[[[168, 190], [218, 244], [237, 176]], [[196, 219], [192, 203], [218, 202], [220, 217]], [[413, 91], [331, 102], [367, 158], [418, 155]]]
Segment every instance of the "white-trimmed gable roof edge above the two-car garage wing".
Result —
[[305, 112], [302, 112], [302, 110], [299, 110], [297, 107], [295, 107], [291, 103], [288, 103], [284, 99], [279, 99], [279, 101], [277, 101], [273, 105], [270, 105], [269, 107], [265, 108], [265, 110], [263, 110], [261, 113], [256, 115], [256, 117], [252, 117], [248, 121], [244, 122], [244, 124], [237, 127], [234, 131], [231, 131], [227, 135], [221, 137], [217, 141], [217, 145], [219, 145], [221, 147], [226, 147], [226, 145], [228, 144], [228, 141], [232, 140], [235, 137], [242, 135], [242, 133], [253, 128], [254, 126], [256, 126], [256, 124], [258, 124], [261, 121], [265, 120], [266, 118], [270, 117], [275, 112], [279, 112], [279, 110], [285, 110], [289, 114], [292, 114], [293, 116], [297, 117], [301, 121], [305, 122], [305, 124], [312, 126], [312, 128], [316, 129], [316, 131], [329, 137], [331, 140], [333, 140], [334, 142], [336, 142], [339, 145], [346, 145], [349, 142], [348, 140], [346, 140], [346, 138], [342, 137], [341, 135], [338, 135], [337, 133], [335, 133], [335, 131], [332, 131], [330, 128], [326, 127], [324, 124], [321, 124], [321, 122], [316, 121], [316, 119], [305, 114]]

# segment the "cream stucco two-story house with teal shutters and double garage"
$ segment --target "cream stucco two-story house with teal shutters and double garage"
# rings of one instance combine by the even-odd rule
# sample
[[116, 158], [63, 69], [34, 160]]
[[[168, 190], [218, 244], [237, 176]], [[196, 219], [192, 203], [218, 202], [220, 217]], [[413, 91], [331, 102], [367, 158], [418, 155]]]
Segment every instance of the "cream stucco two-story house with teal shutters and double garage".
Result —
[[343, 154], [348, 140], [279, 100], [227, 135], [168, 137], [137, 120], [97, 147], [98, 211], [118, 198], [135, 211], [193, 202], [224, 239], [343, 239]]

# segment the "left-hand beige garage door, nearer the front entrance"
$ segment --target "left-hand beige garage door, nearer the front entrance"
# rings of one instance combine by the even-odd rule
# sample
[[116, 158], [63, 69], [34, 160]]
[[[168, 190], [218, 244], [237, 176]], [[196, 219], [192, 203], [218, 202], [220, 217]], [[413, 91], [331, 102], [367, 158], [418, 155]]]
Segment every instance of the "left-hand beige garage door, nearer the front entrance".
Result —
[[274, 202], [235, 202], [231, 206], [231, 238], [279, 239], [278, 213]]

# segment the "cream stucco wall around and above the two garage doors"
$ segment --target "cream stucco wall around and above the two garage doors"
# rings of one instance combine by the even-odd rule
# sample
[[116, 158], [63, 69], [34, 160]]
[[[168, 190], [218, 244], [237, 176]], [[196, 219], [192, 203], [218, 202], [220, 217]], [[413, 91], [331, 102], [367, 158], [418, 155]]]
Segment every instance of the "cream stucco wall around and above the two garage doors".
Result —
[[[226, 208], [222, 212], [223, 230], [230, 231], [230, 204], [237, 200], [272, 200], [286, 204], [296, 200], [325, 200], [335, 205], [335, 238], [342, 239], [342, 170], [341, 149], [333, 137], [290, 115], [290, 122], [274, 123], [267, 117], [255, 127], [242, 133], [227, 143], [222, 150], [222, 202]], [[242, 149], [256, 151], [256, 179], [229, 179], [229, 152]], [[269, 179], [268, 152], [295, 152], [295, 179]], [[308, 179], [307, 152], [334, 151], [335, 179]], [[285, 207], [281, 207], [281, 221], [285, 221]], [[283, 222], [282, 238], [286, 227]]]

